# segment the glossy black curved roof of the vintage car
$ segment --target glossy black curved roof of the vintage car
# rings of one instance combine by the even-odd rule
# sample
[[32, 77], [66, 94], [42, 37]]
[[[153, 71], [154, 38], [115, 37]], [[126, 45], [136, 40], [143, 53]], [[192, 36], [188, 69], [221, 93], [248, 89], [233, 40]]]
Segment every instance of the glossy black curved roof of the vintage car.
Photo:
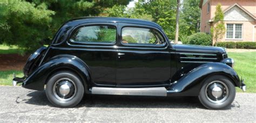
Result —
[[129, 23], [129, 24], [142, 24], [142, 25], [149, 25], [154, 26], [156, 28], [162, 29], [160, 25], [157, 23], [151, 22], [149, 20], [143, 20], [143, 19], [133, 19], [133, 18], [119, 18], [119, 17], [79, 17], [68, 20], [66, 24], [69, 23], [76, 23], [76, 24], [82, 24], [82, 23]]

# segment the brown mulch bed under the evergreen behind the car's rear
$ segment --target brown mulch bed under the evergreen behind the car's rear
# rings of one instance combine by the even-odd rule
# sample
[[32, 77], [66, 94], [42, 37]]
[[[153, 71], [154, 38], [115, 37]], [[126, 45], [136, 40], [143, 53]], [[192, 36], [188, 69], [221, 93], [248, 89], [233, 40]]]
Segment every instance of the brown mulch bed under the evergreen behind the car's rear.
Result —
[[29, 55], [0, 54], [0, 71], [22, 70]]

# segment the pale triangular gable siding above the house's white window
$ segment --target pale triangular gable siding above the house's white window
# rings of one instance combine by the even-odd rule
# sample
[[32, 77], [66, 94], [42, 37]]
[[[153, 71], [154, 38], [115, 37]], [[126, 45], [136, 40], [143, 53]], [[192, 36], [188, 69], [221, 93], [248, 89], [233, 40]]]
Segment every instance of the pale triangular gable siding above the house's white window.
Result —
[[227, 20], [227, 21], [254, 21], [254, 19], [250, 15], [248, 15], [244, 10], [241, 10], [236, 5], [224, 13], [224, 20]]

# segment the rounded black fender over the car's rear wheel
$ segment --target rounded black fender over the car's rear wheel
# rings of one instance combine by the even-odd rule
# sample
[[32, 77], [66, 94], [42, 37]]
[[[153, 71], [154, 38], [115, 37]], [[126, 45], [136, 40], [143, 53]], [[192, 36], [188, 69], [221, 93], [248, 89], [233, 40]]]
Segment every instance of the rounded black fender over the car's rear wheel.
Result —
[[[70, 55], [60, 55], [51, 58], [43, 65], [39, 66], [22, 84], [23, 87], [32, 90], [44, 90], [44, 85], [49, 76], [58, 69], [75, 71], [83, 80], [85, 88], [90, 86], [89, 67], [79, 58]], [[87, 83], [86, 83], [87, 82]]]

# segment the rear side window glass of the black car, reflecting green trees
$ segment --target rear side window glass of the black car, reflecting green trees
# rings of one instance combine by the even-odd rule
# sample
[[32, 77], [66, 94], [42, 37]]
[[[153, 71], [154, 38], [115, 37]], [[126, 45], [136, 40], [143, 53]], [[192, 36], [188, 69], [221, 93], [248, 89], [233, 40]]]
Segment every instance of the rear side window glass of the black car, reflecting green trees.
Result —
[[70, 40], [82, 43], [114, 43], [117, 30], [112, 25], [83, 26], [76, 30]]

